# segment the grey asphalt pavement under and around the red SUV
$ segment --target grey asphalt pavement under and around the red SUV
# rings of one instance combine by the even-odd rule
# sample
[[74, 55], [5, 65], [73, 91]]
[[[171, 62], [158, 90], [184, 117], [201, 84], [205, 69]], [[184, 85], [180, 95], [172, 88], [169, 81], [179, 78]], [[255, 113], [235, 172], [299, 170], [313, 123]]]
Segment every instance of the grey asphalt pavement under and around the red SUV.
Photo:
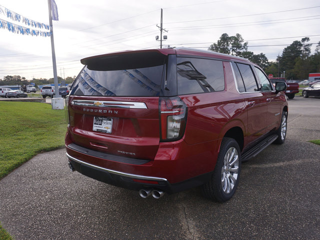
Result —
[[320, 239], [320, 98], [289, 99], [288, 131], [242, 164], [225, 203], [199, 188], [160, 199], [71, 173], [65, 150], [0, 180], [0, 221], [19, 239]]

